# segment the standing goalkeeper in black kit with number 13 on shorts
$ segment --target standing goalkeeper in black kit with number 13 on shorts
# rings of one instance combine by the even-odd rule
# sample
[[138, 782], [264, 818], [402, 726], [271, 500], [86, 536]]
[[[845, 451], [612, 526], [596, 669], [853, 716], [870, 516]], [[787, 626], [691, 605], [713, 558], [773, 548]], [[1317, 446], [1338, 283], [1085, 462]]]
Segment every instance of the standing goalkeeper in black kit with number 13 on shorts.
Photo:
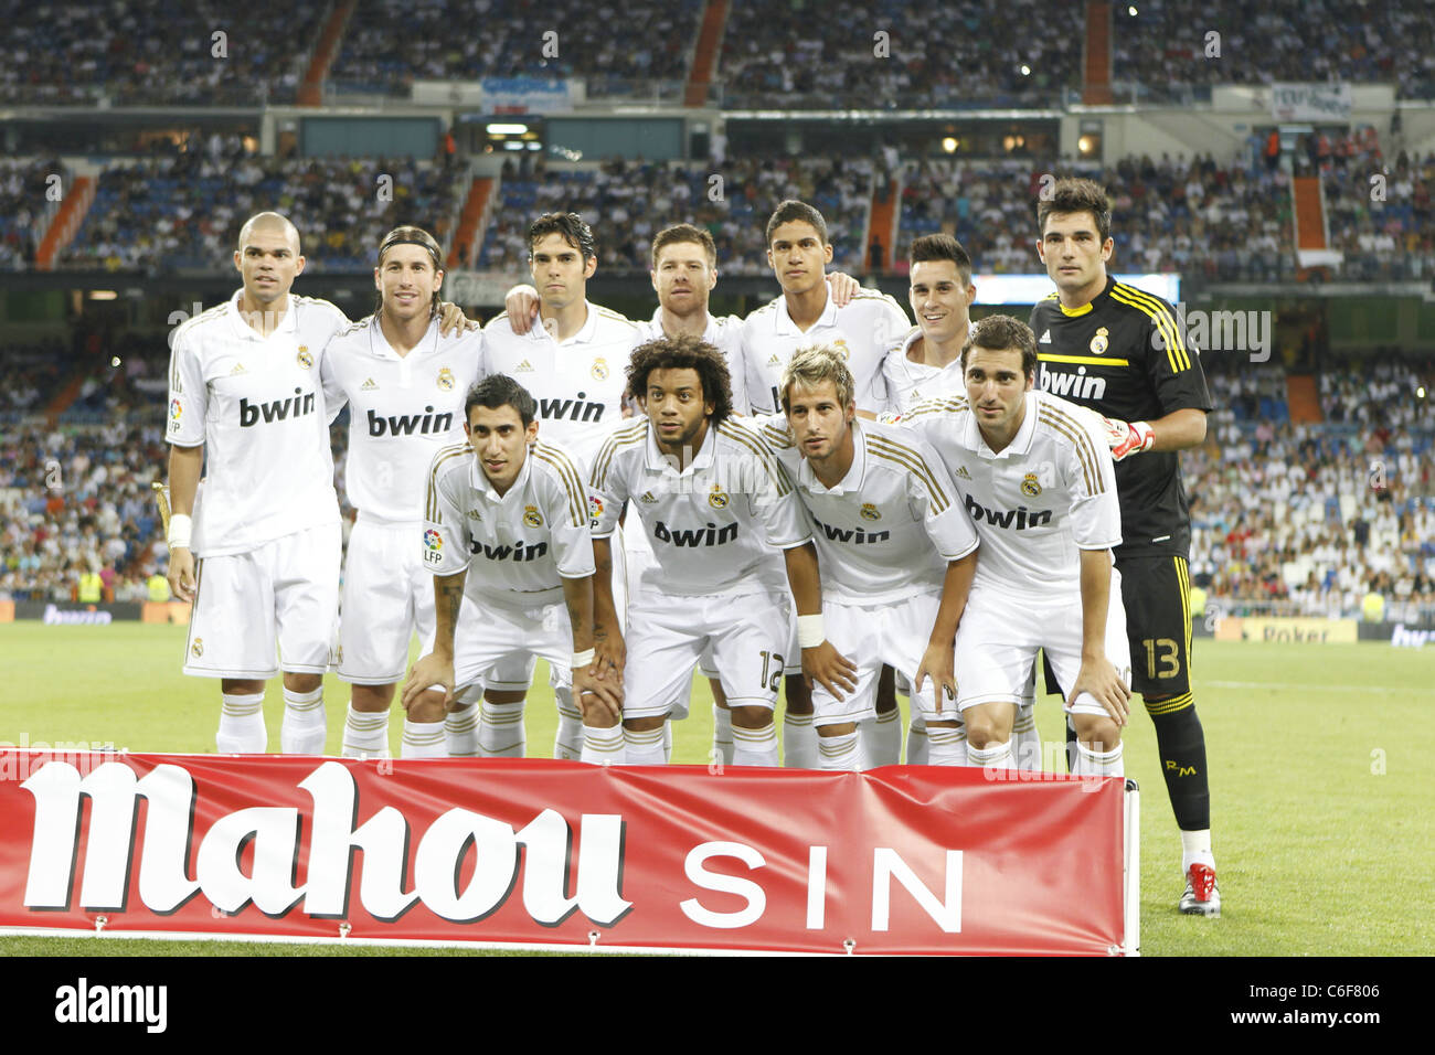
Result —
[[1086, 179], [1059, 179], [1052, 189], [1038, 202], [1036, 245], [1056, 293], [1030, 320], [1040, 334], [1042, 388], [1106, 418], [1135, 689], [1155, 723], [1181, 830], [1187, 888], [1178, 907], [1220, 916], [1205, 733], [1191, 696], [1191, 517], [1177, 454], [1204, 442], [1211, 396], [1198, 349], [1185, 343], [1171, 306], [1106, 274], [1114, 241], [1105, 189]]

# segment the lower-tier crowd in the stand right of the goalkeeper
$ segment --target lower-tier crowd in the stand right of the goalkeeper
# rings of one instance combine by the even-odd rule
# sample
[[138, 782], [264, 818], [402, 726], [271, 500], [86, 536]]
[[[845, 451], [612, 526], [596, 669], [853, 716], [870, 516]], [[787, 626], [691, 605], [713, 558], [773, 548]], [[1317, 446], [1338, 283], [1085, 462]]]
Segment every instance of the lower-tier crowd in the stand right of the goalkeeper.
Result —
[[1320, 425], [1276, 406], [1277, 366], [1210, 370], [1208, 382], [1208, 442], [1182, 455], [1191, 578], [1208, 607], [1355, 617], [1373, 591], [1392, 622], [1435, 619], [1435, 369], [1323, 370]]

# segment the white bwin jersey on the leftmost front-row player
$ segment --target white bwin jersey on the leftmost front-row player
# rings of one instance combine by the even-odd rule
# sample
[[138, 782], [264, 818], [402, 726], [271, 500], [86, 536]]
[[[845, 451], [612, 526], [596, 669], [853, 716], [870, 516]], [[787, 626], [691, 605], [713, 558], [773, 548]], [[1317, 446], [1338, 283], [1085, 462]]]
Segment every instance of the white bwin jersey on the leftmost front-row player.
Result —
[[564, 578], [593, 574], [583, 478], [563, 446], [530, 446], [505, 495], [466, 444], [433, 455], [428, 481], [423, 564], [435, 576], [468, 568], [464, 596], [479, 609], [560, 603]]

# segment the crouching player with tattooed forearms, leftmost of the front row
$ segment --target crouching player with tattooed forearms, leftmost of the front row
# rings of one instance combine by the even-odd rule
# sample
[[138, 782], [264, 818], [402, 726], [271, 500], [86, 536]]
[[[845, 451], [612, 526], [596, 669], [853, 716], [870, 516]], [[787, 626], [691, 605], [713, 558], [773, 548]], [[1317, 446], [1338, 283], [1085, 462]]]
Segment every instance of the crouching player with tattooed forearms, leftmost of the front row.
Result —
[[[499, 663], [548, 660], [584, 712], [616, 723], [617, 679], [594, 672], [593, 535], [583, 478], [561, 446], [538, 441], [537, 405], [512, 378], [469, 389], [466, 445], [433, 456], [423, 561], [433, 571], [433, 652], [403, 686], [409, 706], [429, 686], [449, 709], [476, 702]], [[464, 611], [464, 634], [455, 627]]]

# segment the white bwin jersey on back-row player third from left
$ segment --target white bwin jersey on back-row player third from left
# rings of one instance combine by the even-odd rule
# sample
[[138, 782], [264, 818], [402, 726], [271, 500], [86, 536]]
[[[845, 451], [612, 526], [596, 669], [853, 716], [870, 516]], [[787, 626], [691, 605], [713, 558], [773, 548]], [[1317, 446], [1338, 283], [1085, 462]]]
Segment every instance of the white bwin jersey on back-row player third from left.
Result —
[[508, 313], [484, 327], [486, 372], [507, 373], [538, 400], [538, 435], [563, 444], [584, 465], [623, 418], [623, 390], [637, 326], [587, 301], [583, 329], [558, 342], [542, 320], [524, 336]]

